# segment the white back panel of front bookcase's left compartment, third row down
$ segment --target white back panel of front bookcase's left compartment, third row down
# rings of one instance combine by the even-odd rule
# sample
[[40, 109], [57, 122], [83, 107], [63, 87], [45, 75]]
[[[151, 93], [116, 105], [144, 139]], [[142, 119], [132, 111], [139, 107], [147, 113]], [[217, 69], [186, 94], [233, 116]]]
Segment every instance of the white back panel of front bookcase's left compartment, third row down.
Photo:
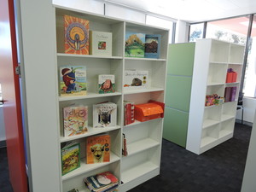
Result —
[[[61, 131], [63, 131], [63, 108], [70, 106], [72, 104], [75, 105], [84, 105], [88, 107], [88, 125], [92, 126], [92, 111], [93, 108], [92, 106], [96, 103], [100, 102], [114, 102], [117, 104], [117, 125], [121, 125], [121, 117], [119, 115], [119, 110], [121, 110], [121, 105], [122, 103], [122, 98], [121, 96], [106, 96], [106, 97], [97, 97], [97, 98], [88, 98], [88, 99], [80, 99], [80, 100], [75, 100], [75, 101], [66, 101], [66, 102], [60, 102], [59, 105], [59, 111], [60, 111], [60, 126], [61, 126]], [[61, 134], [63, 135], [63, 133]]]

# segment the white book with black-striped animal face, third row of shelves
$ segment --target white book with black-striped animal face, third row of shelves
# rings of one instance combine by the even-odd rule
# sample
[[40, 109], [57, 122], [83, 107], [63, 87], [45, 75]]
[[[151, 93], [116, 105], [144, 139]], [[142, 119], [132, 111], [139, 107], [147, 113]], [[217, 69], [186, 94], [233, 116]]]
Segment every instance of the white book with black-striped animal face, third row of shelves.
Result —
[[117, 120], [117, 105], [113, 102], [103, 102], [93, 105], [93, 127], [115, 126]]

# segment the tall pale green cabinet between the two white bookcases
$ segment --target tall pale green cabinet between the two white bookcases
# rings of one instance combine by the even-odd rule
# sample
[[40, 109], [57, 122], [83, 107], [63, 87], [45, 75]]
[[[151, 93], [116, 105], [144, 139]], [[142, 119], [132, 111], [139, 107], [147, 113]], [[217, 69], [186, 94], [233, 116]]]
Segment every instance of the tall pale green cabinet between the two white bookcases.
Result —
[[195, 43], [169, 44], [163, 137], [186, 148]]

